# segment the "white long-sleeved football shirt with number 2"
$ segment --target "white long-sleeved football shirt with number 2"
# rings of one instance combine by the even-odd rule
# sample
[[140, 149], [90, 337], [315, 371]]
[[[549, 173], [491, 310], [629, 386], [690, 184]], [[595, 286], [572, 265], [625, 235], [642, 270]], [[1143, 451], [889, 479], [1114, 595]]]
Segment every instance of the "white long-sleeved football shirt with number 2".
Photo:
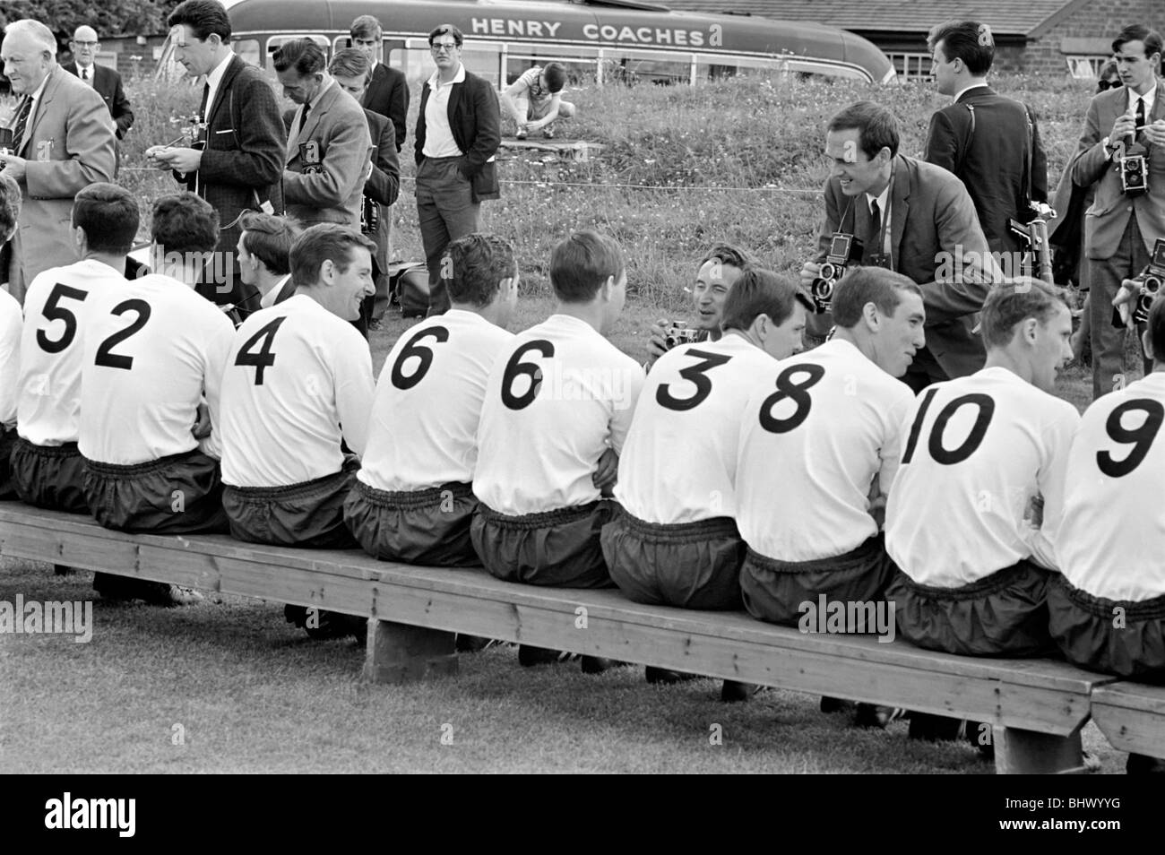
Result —
[[216, 431], [234, 326], [178, 280], [149, 274], [90, 297], [82, 330], [80, 453], [126, 466], [202, 448], [191, 429], [205, 398]]

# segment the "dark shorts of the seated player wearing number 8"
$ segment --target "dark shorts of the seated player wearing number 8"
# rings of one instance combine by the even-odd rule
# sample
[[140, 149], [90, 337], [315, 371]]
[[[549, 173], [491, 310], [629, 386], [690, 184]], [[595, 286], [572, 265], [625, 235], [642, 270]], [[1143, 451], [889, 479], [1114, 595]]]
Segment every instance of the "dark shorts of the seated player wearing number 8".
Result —
[[802, 603], [817, 608], [821, 595], [827, 602], [884, 601], [896, 570], [883, 537], [875, 535], [849, 552], [812, 561], [782, 561], [748, 550], [740, 587], [753, 617], [796, 627], [805, 614]]

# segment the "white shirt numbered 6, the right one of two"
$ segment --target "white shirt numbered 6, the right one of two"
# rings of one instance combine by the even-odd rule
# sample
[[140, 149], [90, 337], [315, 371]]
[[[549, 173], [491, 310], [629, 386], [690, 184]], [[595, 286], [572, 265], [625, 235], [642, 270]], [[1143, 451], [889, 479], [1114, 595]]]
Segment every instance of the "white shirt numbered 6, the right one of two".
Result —
[[598, 501], [592, 475], [621, 453], [643, 369], [594, 327], [552, 315], [499, 354], [486, 383], [473, 492], [517, 516]]

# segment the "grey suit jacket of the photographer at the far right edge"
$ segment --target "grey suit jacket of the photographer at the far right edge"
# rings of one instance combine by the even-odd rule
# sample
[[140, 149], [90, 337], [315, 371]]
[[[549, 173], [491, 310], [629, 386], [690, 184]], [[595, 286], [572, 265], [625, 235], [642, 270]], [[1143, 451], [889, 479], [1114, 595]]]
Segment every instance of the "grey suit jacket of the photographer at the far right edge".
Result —
[[[1115, 162], [1107, 160], [1102, 141], [1113, 133], [1113, 122], [1128, 108], [1129, 90], [1124, 86], [1101, 92], [1088, 105], [1088, 118], [1080, 144], [1068, 164], [1076, 186], [1094, 186], [1096, 196], [1085, 212], [1085, 253], [1089, 259], [1108, 259], [1116, 252], [1129, 224], [1129, 214], [1137, 212], [1137, 227], [1152, 252], [1153, 241], [1165, 238], [1165, 151], [1148, 144], [1149, 192], [1127, 197], [1121, 190], [1121, 175]], [[1146, 122], [1165, 119], [1165, 80], [1157, 80], [1157, 98]], [[1144, 140], [1144, 136], [1141, 137]], [[1113, 140], [1111, 142], [1116, 142]], [[1128, 144], [1128, 139], [1124, 140]], [[1145, 141], [1148, 142], [1148, 141]], [[1131, 153], [1130, 153], [1131, 154]]]

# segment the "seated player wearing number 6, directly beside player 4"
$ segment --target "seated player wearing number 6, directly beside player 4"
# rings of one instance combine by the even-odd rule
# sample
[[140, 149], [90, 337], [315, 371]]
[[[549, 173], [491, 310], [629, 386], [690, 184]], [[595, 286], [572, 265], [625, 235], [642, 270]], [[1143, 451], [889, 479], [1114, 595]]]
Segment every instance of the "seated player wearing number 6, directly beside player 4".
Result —
[[469, 539], [486, 379], [513, 333], [517, 262], [501, 238], [452, 241], [442, 262], [452, 308], [400, 338], [380, 373], [368, 450], [344, 508], [381, 560], [479, 564]]

